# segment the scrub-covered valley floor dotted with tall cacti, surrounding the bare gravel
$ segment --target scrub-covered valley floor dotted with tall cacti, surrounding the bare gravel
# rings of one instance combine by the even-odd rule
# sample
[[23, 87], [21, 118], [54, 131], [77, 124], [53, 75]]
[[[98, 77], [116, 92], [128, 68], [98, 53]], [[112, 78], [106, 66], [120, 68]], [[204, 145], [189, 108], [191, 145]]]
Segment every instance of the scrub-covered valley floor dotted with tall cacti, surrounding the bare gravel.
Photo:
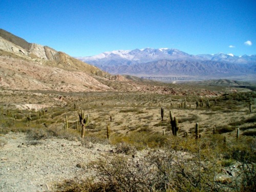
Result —
[[[84, 165], [90, 177], [54, 183], [56, 191], [253, 191], [256, 93], [237, 90], [204, 96], [2, 90], [0, 145], [8, 142], [5, 134], [22, 132], [36, 144], [60, 138], [84, 148], [114, 147]], [[89, 115], [84, 138], [81, 110]], [[179, 123], [177, 136], [169, 111]]]

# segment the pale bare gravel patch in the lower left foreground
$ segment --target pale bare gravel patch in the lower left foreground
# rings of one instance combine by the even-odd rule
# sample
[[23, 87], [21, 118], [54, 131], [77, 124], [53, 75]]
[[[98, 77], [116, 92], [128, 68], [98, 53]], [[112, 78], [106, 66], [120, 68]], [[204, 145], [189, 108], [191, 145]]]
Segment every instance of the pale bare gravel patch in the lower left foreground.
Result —
[[92, 144], [64, 139], [28, 141], [26, 134], [1, 135], [7, 143], [0, 147], [0, 191], [52, 191], [53, 183], [82, 175], [86, 165], [100, 154], [108, 153], [110, 145]]

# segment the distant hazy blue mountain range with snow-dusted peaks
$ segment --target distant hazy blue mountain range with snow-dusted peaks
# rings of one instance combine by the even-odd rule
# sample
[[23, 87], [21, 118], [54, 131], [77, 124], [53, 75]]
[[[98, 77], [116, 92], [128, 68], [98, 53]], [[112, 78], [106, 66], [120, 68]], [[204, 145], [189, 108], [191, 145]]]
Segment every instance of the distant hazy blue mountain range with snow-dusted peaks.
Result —
[[135, 49], [76, 57], [111, 74], [158, 80], [256, 79], [256, 55], [191, 55], [177, 49]]

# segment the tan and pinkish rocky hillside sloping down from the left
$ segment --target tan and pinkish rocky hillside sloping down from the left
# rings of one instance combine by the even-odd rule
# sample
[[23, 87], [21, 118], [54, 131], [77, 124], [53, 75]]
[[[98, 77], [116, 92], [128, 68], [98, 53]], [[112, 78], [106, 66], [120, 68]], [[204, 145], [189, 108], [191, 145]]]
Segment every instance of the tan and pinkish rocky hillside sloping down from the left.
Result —
[[104, 81], [125, 79], [50, 47], [31, 44], [0, 29], [0, 87], [4, 89], [76, 92], [113, 90], [99, 82], [100, 78]]

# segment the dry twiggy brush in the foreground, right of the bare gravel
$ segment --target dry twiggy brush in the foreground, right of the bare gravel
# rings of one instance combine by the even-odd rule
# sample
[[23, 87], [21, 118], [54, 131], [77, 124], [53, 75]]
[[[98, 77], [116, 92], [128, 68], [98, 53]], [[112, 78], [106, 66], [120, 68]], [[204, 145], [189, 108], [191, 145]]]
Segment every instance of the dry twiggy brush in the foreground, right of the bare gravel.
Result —
[[[94, 170], [90, 180], [68, 180], [57, 187], [61, 191], [250, 191], [255, 185], [253, 147], [223, 138], [176, 139], [170, 147], [140, 152], [135, 157], [114, 154], [102, 156], [89, 167]], [[179, 151], [174, 151], [173, 146]], [[228, 154], [226, 154], [228, 152]], [[227, 155], [222, 159], [223, 155]], [[239, 161], [237, 177], [223, 177], [224, 166]]]

